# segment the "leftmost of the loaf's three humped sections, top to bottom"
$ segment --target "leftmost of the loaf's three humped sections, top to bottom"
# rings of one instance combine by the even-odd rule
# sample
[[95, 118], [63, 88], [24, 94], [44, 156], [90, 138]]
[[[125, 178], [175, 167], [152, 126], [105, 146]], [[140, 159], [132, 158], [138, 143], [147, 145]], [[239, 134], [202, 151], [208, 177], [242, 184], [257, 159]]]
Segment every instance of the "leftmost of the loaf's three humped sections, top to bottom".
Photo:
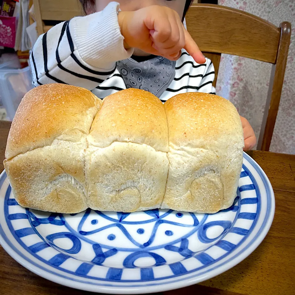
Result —
[[92, 92], [64, 84], [42, 85], [24, 96], [4, 160], [21, 206], [59, 213], [88, 207], [86, 136], [100, 104]]

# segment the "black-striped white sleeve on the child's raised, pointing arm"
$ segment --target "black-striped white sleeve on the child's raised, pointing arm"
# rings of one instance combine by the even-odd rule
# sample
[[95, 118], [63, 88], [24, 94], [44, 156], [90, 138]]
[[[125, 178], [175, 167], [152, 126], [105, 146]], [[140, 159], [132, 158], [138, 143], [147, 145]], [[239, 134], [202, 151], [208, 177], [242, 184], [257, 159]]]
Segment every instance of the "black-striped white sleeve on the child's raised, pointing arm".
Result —
[[92, 90], [109, 77], [116, 61], [129, 58], [117, 11], [111, 2], [101, 12], [54, 26], [36, 41], [30, 55], [34, 86], [64, 83]]

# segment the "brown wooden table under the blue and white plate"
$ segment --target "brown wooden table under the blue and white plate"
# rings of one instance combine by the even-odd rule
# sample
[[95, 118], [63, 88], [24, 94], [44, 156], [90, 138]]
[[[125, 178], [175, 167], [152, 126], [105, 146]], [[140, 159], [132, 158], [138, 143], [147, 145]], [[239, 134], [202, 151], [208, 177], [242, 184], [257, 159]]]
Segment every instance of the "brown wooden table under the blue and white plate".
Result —
[[[0, 171], [10, 123], [0, 121]], [[232, 269], [198, 285], [159, 294], [259, 295], [295, 294], [295, 155], [252, 151], [273, 186], [276, 211], [263, 242]], [[38, 277], [0, 247], [0, 294], [94, 294]]]

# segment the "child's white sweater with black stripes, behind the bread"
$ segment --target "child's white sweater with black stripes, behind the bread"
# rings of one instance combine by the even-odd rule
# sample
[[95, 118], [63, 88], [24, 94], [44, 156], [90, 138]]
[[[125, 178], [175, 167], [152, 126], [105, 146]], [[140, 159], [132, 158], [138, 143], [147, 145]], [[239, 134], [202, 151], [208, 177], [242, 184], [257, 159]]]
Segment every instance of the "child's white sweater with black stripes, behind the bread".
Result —
[[[104, 98], [126, 89], [116, 62], [131, 57], [125, 50], [117, 11], [111, 2], [100, 12], [62, 22], [41, 35], [30, 55], [34, 86], [66, 83], [91, 90]], [[183, 49], [175, 65], [175, 78], [160, 96], [162, 101], [183, 92], [214, 93], [214, 67], [206, 58], [197, 64]]]

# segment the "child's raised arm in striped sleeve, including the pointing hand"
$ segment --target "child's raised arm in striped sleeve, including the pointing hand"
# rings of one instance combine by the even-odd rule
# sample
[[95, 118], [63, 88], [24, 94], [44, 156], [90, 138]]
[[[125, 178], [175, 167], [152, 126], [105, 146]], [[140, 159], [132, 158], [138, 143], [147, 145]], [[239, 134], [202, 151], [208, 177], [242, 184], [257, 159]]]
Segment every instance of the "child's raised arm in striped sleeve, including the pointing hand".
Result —
[[40, 36], [30, 57], [34, 85], [57, 82], [92, 90], [113, 73], [116, 61], [132, 55], [133, 47], [172, 60], [185, 48], [195, 61], [205, 61], [174, 10], [154, 5], [117, 15], [118, 9], [111, 2]]

